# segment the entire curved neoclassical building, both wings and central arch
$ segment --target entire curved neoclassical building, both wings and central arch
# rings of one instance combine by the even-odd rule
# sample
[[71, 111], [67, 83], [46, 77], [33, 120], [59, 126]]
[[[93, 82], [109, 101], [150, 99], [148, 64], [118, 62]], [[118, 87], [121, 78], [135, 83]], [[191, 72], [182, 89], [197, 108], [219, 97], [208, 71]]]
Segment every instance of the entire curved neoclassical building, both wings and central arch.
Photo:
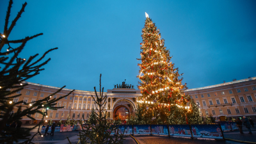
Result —
[[[54, 86], [46, 86], [36, 83], [28, 83], [21, 93], [20, 97], [13, 99], [13, 102], [24, 100], [24, 102], [33, 102], [43, 99], [48, 95], [56, 92], [58, 89]], [[228, 83], [216, 84], [213, 86], [205, 86], [202, 88], [193, 88], [185, 91], [200, 108], [202, 116], [211, 114], [218, 118], [220, 116], [241, 117], [250, 116], [255, 119], [256, 116], [256, 77], [241, 79]], [[67, 95], [70, 89], [63, 89], [51, 99]], [[129, 116], [134, 115], [136, 111], [136, 99], [141, 95], [140, 90], [135, 90], [131, 86], [127, 88], [113, 88], [104, 92], [108, 100], [106, 104], [107, 118], [113, 120], [116, 116], [116, 111], [119, 108], [125, 108]], [[95, 104], [92, 97], [95, 97], [95, 92], [75, 90], [68, 97], [60, 99], [56, 106], [64, 108], [58, 110], [48, 110], [48, 115], [45, 120], [52, 119], [53, 121], [67, 120], [67, 115], [71, 119], [81, 120], [83, 117], [87, 120], [90, 116], [92, 108], [95, 109]], [[23, 105], [23, 104], [21, 104]], [[26, 107], [26, 105], [23, 105]], [[14, 112], [14, 111], [13, 111]], [[33, 115], [36, 120], [33, 121], [28, 117], [22, 118], [23, 124], [35, 124], [40, 122], [42, 115], [36, 113]]]

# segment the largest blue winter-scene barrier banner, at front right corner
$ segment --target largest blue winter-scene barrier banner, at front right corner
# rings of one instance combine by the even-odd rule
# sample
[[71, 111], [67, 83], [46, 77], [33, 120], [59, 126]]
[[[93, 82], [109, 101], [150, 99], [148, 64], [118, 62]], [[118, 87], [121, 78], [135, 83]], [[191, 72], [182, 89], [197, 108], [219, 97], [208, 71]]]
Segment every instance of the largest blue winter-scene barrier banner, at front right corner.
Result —
[[223, 139], [221, 127], [218, 124], [191, 125], [194, 138]]

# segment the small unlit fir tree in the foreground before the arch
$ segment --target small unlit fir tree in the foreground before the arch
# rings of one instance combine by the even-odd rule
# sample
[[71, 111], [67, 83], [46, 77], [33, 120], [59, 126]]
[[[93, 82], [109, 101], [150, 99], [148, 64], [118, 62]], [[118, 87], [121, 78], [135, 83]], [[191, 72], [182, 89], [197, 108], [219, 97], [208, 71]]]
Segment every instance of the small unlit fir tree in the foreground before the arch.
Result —
[[[93, 96], [95, 104], [97, 104], [97, 113], [96, 114], [96, 124], [93, 125], [91, 122], [86, 123], [83, 127], [83, 131], [79, 132], [80, 140], [78, 143], [87, 144], [87, 143], [123, 143], [124, 141], [124, 132], [120, 134], [118, 125], [115, 123], [112, 124], [107, 120], [107, 111], [105, 108], [107, 104], [107, 95], [103, 95], [103, 90], [101, 90], [101, 74], [100, 74], [100, 92], [99, 95], [96, 92], [94, 87], [96, 98]], [[116, 131], [117, 134], [115, 138], [110, 136], [111, 131]], [[71, 142], [70, 142], [71, 143]]]

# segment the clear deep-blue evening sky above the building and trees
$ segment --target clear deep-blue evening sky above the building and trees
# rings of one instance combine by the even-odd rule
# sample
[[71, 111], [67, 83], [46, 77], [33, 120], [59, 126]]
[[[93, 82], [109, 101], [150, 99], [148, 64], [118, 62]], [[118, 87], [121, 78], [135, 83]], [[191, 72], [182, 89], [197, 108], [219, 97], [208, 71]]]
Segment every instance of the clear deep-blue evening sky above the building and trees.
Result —
[[[24, 0], [14, 0], [10, 21]], [[93, 91], [139, 79], [141, 29], [148, 13], [160, 29], [172, 62], [189, 88], [256, 74], [256, 1], [33, 1], [9, 39], [31, 40], [22, 58], [59, 47], [40, 75], [29, 82]], [[8, 0], [0, 1], [3, 33]], [[4, 49], [7, 49], [5, 47]], [[3, 50], [5, 51], [5, 50]], [[46, 59], [45, 59], [46, 60]], [[136, 88], [137, 89], [137, 88]]]

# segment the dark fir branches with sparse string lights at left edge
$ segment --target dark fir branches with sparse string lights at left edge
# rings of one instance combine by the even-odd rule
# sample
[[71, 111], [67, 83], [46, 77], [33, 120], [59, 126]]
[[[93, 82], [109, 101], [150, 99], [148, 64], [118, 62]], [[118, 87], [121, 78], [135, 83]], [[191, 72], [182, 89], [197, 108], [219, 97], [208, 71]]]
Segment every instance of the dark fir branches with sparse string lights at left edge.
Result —
[[[22, 13], [25, 12], [24, 10], [27, 3], [22, 5], [22, 8], [17, 13], [15, 19], [12, 20], [11, 24], [9, 24], [12, 4], [13, 1], [10, 0], [4, 22], [4, 31], [3, 33], [0, 33], [0, 138], [2, 143], [13, 143], [13, 141], [18, 142], [18, 140], [26, 140], [24, 143], [31, 143], [31, 140], [37, 134], [42, 135], [40, 133], [40, 125], [44, 122], [44, 117], [47, 116], [46, 108], [52, 110], [63, 108], [54, 107], [54, 105], [56, 105], [58, 100], [67, 97], [73, 91], [58, 99], [51, 99], [52, 95], [60, 92], [65, 87], [63, 86], [57, 92], [52, 93], [44, 99], [36, 100], [35, 102], [29, 102], [26, 104], [24, 104], [23, 100], [13, 102], [13, 99], [22, 95], [16, 93], [23, 90], [24, 86], [28, 86], [28, 83], [24, 82], [31, 77], [40, 74], [40, 72], [44, 70], [42, 67], [51, 60], [51, 58], [49, 58], [48, 60], [42, 61], [45, 58], [45, 55], [58, 48], [49, 49], [49, 51], [46, 51], [40, 58], [38, 58], [38, 60], [36, 60], [36, 56], [38, 56], [38, 54], [29, 56], [28, 58], [20, 58], [20, 55], [29, 40], [43, 35], [43, 33], [26, 36], [26, 38], [21, 38], [19, 40], [10, 40], [11, 32]], [[20, 45], [18, 47], [13, 47], [13, 44]], [[42, 112], [42, 109], [46, 110]], [[11, 113], [12, 111], [14, 111], [14, 113]], [[40, 113], [42, 115], [42, 120], [38, 125], [35, 125], [35, 127], [31, 129], [24, 127], [19, 127], [17, 129], [13, 127], [6, 127], [6, 124], [12, 124], [13, 122], [20, 124], [20, 120], [24, 116], [31, 120], [35, 120], [35, 118], [33, 118], [35, 113]], [[31, 136], [30, 131], [36, 127], [38, 128], [37, 132], [29, 138], [29, 136]]]

